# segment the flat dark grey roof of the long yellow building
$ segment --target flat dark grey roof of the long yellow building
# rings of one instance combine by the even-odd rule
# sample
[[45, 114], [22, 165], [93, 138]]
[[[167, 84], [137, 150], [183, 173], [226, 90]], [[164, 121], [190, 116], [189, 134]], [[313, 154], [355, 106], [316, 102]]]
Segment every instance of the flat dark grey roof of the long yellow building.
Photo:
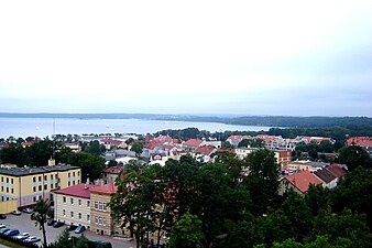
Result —
[[0, 168], [0, 174], [3, 175], [12, 175], [12, 176], [22, 176], [22, 175], [33, 175], [33, 174], [42, 174], [48, 172], [59, 172], [59, 171], [68, 171], [79, 169], [78, 166], [72, 165], [53, 165], [53, 166], [41, 166], [41, 168], [13, 168], [13, 169], [4, 169]]

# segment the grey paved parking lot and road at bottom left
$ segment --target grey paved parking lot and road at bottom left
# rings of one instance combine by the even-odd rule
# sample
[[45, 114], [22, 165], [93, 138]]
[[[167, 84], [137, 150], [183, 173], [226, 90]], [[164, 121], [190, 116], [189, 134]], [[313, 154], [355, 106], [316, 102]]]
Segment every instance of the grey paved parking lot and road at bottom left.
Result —
[[[0, 219], [0, 224], [4, 224], [8, 228], [11, 229], [19, 229], [21, 233], [29, 233], [30, 236], [37, 236], [37, 237], [43, 237], [42, 231], [39, 229], [39, 226], [35, 227], [35, 223], [33, 220], [31, 220], [30, 218], [30, 214], [24, 214], [22, 213], [22, 215], [20, 216], [15, 216], [15, 215], [7, 215], [7, 219]], [[64, 227], [59, 227], [59, 228], [53, 228], [52, 226], [46, 226], [46, 240], [47, 242], [53, 242], [55, 241], [58, 236], [62, 234], [62, 231], [64, 230]], [[74, 236], [79, 236], [74, 234], [73, 231], [70, 233]], [[135, 242], [134, 241], [128, 241], [125, 239], [121, 239], [121, 238], [114, 238], [114, 237], [110, 237], [110, 236], [100, 236], [100, 235], [96, 235], [92, 231], [86, 230], [85, 236], [88, 239], [91, 240], [106, 240], [106, 241], [110, 241], [112, 244], [113, 248], [130, 248], [130, 247], [135, 247]], [[39, 245], [41, 245], [39, 242]], [[1, 248], [1, 246], [0, 246]]]

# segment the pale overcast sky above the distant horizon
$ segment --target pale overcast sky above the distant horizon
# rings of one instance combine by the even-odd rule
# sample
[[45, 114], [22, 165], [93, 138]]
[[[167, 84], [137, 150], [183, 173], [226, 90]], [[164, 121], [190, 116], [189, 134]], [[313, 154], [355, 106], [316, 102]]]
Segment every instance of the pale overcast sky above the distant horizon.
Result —
[[0, 112], [372, 116], [372, 1], [1, 1]]

